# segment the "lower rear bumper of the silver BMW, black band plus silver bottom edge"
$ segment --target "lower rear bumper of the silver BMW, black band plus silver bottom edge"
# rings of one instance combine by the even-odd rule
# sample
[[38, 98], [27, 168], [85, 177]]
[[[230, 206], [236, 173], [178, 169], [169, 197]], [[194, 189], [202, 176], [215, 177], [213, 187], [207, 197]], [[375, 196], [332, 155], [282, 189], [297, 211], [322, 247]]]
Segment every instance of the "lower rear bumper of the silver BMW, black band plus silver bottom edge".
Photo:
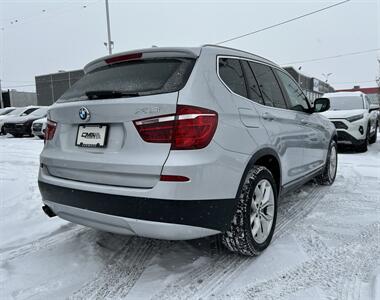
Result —
[[43, 202], [58, 216], [107, 231], [186, 240], [225, 231], [235, 199], [165, 200], [71, 189], [39, 181]]

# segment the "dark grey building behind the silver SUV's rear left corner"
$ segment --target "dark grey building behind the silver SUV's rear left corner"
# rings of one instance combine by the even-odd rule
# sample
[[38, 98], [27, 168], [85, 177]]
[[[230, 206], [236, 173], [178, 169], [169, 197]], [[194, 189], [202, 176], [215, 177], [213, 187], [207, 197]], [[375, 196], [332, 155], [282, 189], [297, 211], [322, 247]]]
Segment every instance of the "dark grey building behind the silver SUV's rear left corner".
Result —
[[53, 104], [83, 75], [83, 70], [74, 70], [36, 76], [37, 104]]

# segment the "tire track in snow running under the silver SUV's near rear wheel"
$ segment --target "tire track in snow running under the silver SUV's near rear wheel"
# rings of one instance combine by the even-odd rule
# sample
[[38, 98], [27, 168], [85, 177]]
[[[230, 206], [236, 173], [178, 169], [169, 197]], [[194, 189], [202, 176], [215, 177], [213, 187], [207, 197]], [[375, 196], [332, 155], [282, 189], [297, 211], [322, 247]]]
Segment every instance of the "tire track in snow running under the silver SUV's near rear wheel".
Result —
[[[313, 210], [319, 203], [320, 197], [325, 194], [324, 189], [325, 187], [313, 186], [310, 193], [304, 198], [302, 198], [302, 195], [294, 195], [293, 193], [286, 197], [290, 201], [281, 203], [280, 199], [278, 223], [272, 242], [292, 231], [293, 225], [296, 225]], [[226, 282], [230, 282], [253, 259], [255, 258], [243, 257], [224, 251], [221, 255], [211, 257], [207, 263], [170, 283], [152, 299], [208, 298], [218, 288], [224, 286]]]

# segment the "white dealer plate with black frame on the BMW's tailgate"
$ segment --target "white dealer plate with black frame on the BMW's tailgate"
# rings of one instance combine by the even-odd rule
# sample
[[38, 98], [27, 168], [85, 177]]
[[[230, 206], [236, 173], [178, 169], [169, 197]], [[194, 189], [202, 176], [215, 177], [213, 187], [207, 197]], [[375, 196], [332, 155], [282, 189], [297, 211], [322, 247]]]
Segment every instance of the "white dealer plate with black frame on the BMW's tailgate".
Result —
[[104, 148], [107, 146], [108, 125], [79, 125], [75, 145], [86, 148]]

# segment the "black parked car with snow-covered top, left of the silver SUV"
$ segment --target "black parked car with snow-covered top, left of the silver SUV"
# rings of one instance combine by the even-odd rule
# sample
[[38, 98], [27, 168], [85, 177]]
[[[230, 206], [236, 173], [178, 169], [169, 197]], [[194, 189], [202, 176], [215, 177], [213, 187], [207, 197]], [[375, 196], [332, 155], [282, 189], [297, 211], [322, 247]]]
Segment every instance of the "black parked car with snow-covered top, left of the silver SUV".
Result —
[[4, 132], [14, 137], [32, 136], [33, 121], [46, 117], [47, 110], [48, 107], [39, 107], [27, 115], [6, 119], [3, 126]]

